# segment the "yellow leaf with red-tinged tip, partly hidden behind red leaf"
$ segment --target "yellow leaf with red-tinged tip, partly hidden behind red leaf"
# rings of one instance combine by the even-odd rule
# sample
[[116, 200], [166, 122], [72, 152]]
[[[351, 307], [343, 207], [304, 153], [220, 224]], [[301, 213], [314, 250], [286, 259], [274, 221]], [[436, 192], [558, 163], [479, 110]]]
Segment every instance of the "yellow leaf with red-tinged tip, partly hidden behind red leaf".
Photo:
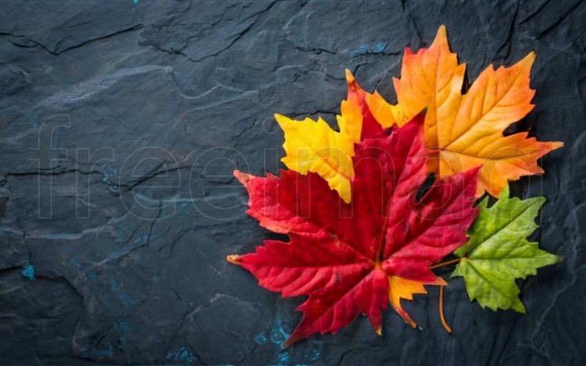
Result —
[[275, 119], [285, 134], [285, 157], [281, 161], [295, 172], [319, 174], [332, 190], [350, 203], [354, 144], [361, 137], [374, 137], [383, 132], [368, 110], [366, 93], [356, 83], [350, 70], [346, 70], [346, 79], [348, 96], [341, 103], [341, 114], [336, 116], [340, 131], [332, 130], [321, 117], [317, 121], [310, 118], [295, 121], [275, 114]]

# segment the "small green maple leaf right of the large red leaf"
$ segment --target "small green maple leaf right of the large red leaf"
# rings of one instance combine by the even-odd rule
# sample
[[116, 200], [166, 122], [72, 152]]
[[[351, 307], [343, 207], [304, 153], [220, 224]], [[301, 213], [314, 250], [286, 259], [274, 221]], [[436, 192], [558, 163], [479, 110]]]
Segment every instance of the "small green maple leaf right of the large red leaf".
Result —
[[478, 205], [480, 212], [469, 229], [469, 241], [454, 252], [461, 261], [452, 274], [464, 277], [471, 301], [476, 299], [482, 307], [492, 310], [525, 313], [515, 279], [563, 260], [540, 250], [538, 243], [527, 241], [527, 236], [539, 227], [535, 218], [544, 202], [544, 197], [509, 199], [507, 186], [492, 207], [487, 207], [488, 197]]

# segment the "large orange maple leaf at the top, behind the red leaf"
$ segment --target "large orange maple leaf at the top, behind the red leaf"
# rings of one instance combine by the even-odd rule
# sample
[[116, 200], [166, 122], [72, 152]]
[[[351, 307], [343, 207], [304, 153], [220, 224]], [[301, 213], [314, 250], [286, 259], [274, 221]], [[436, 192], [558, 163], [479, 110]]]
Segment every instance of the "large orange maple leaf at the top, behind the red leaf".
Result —
[[367, 94], [369, 109], [381, 123], [403, 125], [423, 108], [425, 141], [436, 152], [430, 156], [430, 172], [448, 176], [483, 165], [476, 196], [485, 191], [498, 196], [521, 176], [541, 174], [537, 159], [563, 146], [560, 142], [527, 139], [527, 132], [503, 136], [509, 125], [522, 119], [534, 105], [529, 72], [535, 59], [531, 52], [510, 68], [489, 65], [462, 94], [465, 64], [458, 65], [449, 51], [445, 27], [439, 28], [430, 48], [413, 53], [405, 49], [401, 79], [394, 79], [397, 105], [378, 92]]

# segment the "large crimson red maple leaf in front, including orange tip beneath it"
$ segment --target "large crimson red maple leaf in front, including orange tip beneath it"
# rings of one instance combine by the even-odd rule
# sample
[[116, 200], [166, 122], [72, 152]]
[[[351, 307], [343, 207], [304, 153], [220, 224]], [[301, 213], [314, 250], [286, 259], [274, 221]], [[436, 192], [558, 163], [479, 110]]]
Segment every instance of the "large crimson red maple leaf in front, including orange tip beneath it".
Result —
[[380, 334], [388, 301], [415, 325], [400, 299], [425, 293], [423, 284], [445, 284], [429, 267], [467, 240], [478, 168], [436, 181], [417, 201], [427, 175], [424, 118], [356, 145], [351, 205], [314, 173], [234, 172], [250, 196], [247, 213], [290, 241], [267, 240], [255, 253], [228, 261], [283, 297], [309, 295], [285, 345], [335, 333], [359, 313]]

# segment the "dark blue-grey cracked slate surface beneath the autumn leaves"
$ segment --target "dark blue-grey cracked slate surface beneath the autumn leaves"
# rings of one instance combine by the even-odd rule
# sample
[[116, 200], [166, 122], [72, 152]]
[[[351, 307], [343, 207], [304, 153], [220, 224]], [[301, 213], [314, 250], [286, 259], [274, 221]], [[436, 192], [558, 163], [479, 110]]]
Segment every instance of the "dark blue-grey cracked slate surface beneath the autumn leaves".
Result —
[[[0, 364], [584, 365], [585, 1], [2, 1]], [[334, 122], [350, 68], [394, 100], [405, 45], [447, 25], [469, 80], [538, 55], [522, 122], [565, 148], [522, 179], [547, 196], [527, 314], [463, 281], [289, 349], [302, 298], [225, 261], [271, 234], [234, 167], [276, 172], [274, 112]]]

